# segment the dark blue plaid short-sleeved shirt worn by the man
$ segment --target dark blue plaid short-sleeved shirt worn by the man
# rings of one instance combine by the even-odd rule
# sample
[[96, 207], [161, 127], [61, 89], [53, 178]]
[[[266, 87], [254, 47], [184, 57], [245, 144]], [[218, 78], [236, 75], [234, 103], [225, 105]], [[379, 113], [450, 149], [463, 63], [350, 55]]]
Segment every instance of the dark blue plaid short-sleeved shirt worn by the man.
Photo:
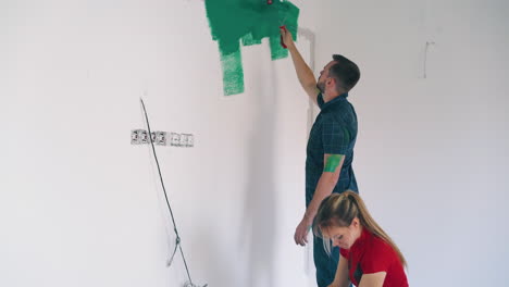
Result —
[[313, 199], [318, 182], [322, 176], [325, 153], [345, 155], [339, 180], [333, 192], [343, 192], [347, 189], [359, 191], [351, 166], [357, 139], [357, 114], [347, 97], [348, 93], [343, 93], [324, 102], [322, 93], [318, 96], [321, 111], [311, 128], [307, 148], [306, 207]]

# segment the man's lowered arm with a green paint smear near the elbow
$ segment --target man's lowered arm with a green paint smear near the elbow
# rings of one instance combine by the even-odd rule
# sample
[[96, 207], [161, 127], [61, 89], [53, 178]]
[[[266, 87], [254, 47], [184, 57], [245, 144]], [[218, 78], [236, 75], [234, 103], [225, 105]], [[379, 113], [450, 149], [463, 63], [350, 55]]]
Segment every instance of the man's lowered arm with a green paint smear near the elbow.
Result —
[[324, 198], [332, 194], [334, 187], [339, 180], [339, 172], [342, 171], [344, 161], [344, 154], [325, 153], [325, 167], [323, 169], [322, 176], [320, 176], [313, 198], [306, 210], [305, 216], [295, 232], [294, 239], [296, 244], [305, 246], [308, 242], [307, 235], [309, 227], [313, 224], [320, 203]]

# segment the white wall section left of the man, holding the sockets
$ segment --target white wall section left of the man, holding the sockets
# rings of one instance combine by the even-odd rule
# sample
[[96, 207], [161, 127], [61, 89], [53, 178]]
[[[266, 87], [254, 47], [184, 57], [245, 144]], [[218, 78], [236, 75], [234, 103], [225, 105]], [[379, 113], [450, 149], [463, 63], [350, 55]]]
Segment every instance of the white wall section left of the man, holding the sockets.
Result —
[[[314, 8], [301, 7], [301, 24]], [[191, 276], [209, 286], [307, 286], [308, 100], [268, 42], [243, 48], [246, 92], [222, 96], [202, 1], [0, 3], [0, 286], [179, 286], [158, 148]], [[307, 27], [313, 28], [312, 25]], [[301, 41], [309, 52], [309, 42]]]

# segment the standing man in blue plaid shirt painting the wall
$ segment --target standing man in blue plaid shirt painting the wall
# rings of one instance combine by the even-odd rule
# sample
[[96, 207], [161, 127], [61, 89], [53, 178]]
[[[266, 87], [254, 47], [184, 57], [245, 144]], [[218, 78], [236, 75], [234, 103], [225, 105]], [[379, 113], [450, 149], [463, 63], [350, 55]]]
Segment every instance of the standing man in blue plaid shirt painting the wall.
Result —
[[[305, 246], [320, 203], [332, 192], [358, 192], [351, 166], [357, 139], [357, 115], [347, 97], [360, 78], [359, 67], [343, 55], [333, 55], [316, 80], [297, 50], [291, 34], [281, 29], [300, 85], [321, 109], [309, 135], [306, 159], [306, 213], [295, 230], [295, 242]], [[313, 236], [314, 265], [319, 287], [333, 280], [339, 260], [336, 247], [331, 254], [320, 237]]]

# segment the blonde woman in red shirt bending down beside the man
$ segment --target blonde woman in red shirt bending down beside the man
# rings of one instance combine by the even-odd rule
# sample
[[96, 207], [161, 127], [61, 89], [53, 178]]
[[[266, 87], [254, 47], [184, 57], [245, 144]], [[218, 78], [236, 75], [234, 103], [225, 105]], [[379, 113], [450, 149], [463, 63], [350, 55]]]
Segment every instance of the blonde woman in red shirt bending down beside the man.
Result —
[[330, 287], [407, 287], [407, 262], [390, 237], [371, 217], [353, 191], [333, 194], [320, 204], [313, 232], [325, 249], [340, 248], [336, 276]]

